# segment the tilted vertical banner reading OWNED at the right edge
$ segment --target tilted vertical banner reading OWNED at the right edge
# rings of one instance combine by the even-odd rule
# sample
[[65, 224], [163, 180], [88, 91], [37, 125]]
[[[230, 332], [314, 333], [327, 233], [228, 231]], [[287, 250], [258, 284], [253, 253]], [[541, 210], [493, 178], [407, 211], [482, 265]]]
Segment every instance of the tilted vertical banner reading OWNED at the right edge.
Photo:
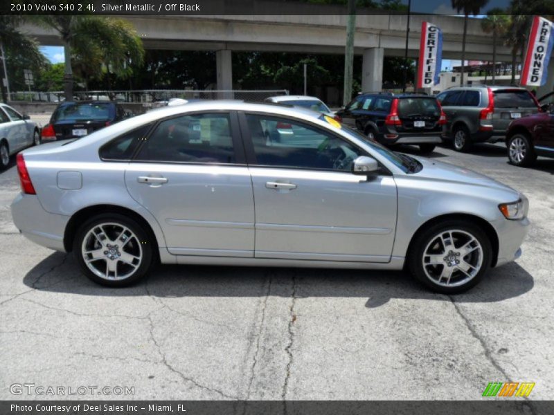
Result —
[[542, 86], [546, 84], [548, 77], [548, 61], [552, 53], [554, 36], [552, 33], [552, 22], [544, 17], [535, 16], [524, 67], [521, 69], [521, 86]]

